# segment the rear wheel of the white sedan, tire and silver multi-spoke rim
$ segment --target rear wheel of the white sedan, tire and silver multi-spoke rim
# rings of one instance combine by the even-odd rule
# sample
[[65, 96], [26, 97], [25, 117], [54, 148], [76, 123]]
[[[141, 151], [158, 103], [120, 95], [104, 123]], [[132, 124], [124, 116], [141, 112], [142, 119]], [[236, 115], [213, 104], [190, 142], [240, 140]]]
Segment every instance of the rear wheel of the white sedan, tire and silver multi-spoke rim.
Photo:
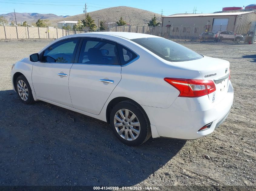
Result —
[[119, 141], [128, 146], [141, 145], [151, 137], [148, 117], [132, 101], [122, 101], [113, 107], [110, 126]]

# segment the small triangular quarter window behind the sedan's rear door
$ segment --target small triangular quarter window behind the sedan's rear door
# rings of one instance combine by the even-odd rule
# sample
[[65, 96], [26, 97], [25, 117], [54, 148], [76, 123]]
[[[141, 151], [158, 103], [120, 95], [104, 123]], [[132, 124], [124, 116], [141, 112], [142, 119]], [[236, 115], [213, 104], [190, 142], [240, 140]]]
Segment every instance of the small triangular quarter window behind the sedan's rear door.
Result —
[[133, 61], [138, 57], [138, 55], [135, 52], [121, 44], [118, 44], [118, 52], [121, 65], [128, 64], [129, 62]]

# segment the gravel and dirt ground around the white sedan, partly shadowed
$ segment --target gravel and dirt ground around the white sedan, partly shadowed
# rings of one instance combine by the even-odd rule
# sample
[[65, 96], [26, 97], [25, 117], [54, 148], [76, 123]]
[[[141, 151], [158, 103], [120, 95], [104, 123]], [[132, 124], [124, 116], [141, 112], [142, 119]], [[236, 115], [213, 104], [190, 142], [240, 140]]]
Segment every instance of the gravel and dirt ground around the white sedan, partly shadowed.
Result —
[[[51, 40], [0, 40], [0, 185], [256, 186], [256, 44], [179, 42], [230, 62], [234, 105], [192, 141], [121, 144], [106, 123], [42, 101], [20, 102], [12, 63]], [[206, 159], [208, 155], [210, 159]]]

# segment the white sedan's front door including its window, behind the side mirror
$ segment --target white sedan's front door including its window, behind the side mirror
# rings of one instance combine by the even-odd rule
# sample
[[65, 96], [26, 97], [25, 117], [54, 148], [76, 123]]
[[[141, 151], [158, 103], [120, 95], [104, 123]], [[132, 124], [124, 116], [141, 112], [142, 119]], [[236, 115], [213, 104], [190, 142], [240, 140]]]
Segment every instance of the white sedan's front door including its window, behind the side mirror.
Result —
[[68, 78], [78, 43], [79, 38], [61, 40], [40, 54], [32, 70], [32, 83], [39, 98], [72, 107]]

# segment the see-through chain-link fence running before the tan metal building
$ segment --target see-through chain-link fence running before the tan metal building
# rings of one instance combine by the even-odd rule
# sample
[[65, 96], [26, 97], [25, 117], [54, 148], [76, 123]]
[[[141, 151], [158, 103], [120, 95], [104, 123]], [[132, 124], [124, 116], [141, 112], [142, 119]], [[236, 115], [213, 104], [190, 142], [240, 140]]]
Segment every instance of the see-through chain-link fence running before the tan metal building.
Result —
[[256, 43], [256, 25], [239, 26], [234, 30], [227, 30], [227, 28], [227, 25], [187, 27], [181, 24], [167, 27], [116, 26], [110, 31], [151, 34], [170, 40]]

